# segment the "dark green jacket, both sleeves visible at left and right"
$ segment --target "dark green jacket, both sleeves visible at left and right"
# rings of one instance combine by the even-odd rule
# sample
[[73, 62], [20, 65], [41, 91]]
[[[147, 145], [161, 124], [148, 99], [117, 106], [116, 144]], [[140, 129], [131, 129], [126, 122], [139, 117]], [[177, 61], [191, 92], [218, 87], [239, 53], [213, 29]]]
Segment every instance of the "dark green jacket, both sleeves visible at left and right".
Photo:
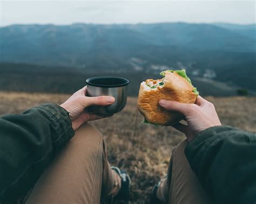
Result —
[[[26, 193], [74, 135], [68, 112], [43, 104], [0, 117], [0, 203]], [[217, 203], [256, 202], [256, 136], [228, 126], [199, 133], [185, 154]]]

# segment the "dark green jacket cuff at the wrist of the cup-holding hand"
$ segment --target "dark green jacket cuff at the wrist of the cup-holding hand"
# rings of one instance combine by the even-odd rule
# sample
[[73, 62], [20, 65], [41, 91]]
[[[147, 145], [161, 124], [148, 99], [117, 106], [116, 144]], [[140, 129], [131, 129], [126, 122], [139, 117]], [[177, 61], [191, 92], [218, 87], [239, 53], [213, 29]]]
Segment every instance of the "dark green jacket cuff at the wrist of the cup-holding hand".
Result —
[[55, 103], [45, 103], [37, 108], [45, 110], [48, 115], [57, 123], [62, 133], [62, 143], [68, 142], [74, 135], [69, 112]]

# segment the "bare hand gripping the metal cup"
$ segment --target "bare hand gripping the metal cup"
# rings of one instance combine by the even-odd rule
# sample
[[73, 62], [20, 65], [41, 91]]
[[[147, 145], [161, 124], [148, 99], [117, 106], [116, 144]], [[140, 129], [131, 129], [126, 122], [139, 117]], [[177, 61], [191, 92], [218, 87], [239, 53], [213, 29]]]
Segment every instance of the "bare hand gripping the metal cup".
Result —
[[98, 97], [87, 97], [86, 86], [78, 90], [75, 94], [70, 96], [60, 107], [64, 108], [69, 112], [69, 117], [72, 121], [73, 130], [77, 130], [79, 126], [96, 119], [110, 117], [112, 115], [100, 115], [90, 114], [87, 108], [91, 105], [110, 105], [114, 102], [114, 97], [111, 96], [98, 96]]

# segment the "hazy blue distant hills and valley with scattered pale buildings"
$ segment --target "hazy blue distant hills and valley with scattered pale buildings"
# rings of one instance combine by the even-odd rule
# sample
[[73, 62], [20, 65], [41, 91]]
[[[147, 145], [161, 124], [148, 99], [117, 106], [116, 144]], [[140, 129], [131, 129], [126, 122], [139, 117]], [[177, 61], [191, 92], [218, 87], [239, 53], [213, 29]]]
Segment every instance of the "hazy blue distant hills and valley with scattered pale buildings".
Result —
[[255, 36], [255, 24], [11, 25], [0, 27], [0, 62], [91, 74], [186, 68], [256, 90]]

